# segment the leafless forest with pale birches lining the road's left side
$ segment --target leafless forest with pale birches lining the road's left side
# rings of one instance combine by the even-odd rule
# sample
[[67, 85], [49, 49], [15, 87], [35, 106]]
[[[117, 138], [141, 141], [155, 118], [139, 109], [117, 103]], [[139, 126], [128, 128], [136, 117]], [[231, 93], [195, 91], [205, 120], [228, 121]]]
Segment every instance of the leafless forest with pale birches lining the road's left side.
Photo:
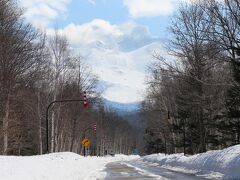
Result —
[[[46, 108], [50, 152], [82, 154], [84, 130], [90, 154], [131, 153], [134, 132], [127, 121], [105, 110], [98, 79], [83, 58], [72, 52], [58, 30], [47, 36], [23, 18], [15, 0], [0, 0], [0, 152], [8, 155], [46, 153]], [[97, 131], [93, 131], [93, 126]]]

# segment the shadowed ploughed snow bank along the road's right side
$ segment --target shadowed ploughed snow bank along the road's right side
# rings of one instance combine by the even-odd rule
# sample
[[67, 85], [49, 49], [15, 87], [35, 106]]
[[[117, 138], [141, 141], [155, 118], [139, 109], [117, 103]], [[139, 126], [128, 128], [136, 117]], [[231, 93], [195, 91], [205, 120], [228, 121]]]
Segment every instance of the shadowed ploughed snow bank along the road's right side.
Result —
[[240, 145], [193, 156], [153, 154], [143, 157], [174, 171], [193, 173], [214, 179], [240, 179]]

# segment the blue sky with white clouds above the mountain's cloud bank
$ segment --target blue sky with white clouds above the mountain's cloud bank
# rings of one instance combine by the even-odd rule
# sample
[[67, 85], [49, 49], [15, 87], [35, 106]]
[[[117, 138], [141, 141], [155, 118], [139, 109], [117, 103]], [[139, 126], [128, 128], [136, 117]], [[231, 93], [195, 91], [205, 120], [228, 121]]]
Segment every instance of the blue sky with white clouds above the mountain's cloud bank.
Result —
[[93, 19], [118, 25], [134, 21], [159, 37], [165, 37], [178, 3], [178, 0], [20, 0], [27, 19], [35, 25], [64, 28], [70, 23], [83, 24]]

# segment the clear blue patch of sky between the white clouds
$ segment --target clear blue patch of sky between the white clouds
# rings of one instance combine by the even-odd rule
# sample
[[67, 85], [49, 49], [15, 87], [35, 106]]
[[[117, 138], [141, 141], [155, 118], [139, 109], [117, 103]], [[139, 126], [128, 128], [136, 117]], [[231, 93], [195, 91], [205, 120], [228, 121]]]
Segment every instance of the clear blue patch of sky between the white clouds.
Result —
[[69, 22], [83, 24], [93, 19], [104, 19], [112, 24], [134, 21], [148, 27], [153, 36], [165, 37], [166, 27], [170, 20], [169, 15], [132, 18], [122, 0], [73, 0], [67, 5], [67, 8], [69, 9], [67, 16], [52, 21], [50, 23], [51, 27], [56, 26], [56, 22], [60, 28], [63, 28]]

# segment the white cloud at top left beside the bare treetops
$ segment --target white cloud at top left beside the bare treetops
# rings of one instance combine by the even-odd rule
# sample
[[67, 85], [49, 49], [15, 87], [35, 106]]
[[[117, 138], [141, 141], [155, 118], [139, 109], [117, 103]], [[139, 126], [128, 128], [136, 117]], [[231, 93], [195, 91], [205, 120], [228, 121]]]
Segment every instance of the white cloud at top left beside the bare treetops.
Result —
[[71, 0], [20, 0], [26, 11], [24, 16], [36, 27], [47, 27], [48, 24], [64, 16]]

